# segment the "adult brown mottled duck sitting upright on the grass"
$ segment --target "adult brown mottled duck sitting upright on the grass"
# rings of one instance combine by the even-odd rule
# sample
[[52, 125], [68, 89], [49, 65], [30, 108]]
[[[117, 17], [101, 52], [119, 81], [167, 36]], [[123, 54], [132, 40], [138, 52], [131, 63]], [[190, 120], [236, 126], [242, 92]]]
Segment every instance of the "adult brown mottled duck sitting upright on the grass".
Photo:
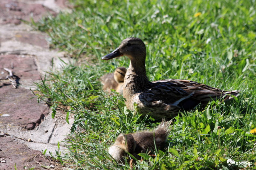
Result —
[[190, 80], [167, 79], [150, 82], [146, 75], [146, 46], [139, 38], [126, 38], [112, 53], [102, 60], [127, 56], [130, 66], [124, 77], [123, 96], [126, 107], [133, 110], [134, 102], [140, 114], [157, 119], [172, 119], [180, 111], [186, 112], [209, 101], [224, 99], [228, 101], [239, 95], [239, 91], [223, 91]]

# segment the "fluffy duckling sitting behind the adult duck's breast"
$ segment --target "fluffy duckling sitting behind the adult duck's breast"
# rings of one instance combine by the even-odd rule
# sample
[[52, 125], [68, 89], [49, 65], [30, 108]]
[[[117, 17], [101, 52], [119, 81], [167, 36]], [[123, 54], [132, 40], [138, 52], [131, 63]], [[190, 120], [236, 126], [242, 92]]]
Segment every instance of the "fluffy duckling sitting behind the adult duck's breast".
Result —
[[103, 84], [103, 90], [111, 92], [110, 89], [116, 90], [123, 94], [124, 75], [126, 68], [118, 67], [114, 73], [109, 73], [101, 77], [101, 83]]

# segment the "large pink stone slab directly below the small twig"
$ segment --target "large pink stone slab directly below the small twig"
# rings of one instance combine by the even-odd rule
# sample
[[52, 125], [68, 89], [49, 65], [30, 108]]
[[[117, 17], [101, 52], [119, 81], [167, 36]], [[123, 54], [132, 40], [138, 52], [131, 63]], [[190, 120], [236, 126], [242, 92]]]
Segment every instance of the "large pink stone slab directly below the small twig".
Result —
[[[14, 123], [32, 130], [49, 114], [49, 108], [43, 103], [37, 103], [29, 90], [5, 85], [0, 88], [0, 94], [1, 123]], [[4, 114], [9, 116], [3, 116]]]

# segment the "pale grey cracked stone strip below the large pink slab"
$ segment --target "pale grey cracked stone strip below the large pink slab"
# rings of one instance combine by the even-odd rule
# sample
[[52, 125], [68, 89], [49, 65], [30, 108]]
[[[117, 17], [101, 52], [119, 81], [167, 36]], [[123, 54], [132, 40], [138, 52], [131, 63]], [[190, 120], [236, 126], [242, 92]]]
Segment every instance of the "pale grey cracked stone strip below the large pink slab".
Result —
[[[9, 135], [8, 137], [12, 137], [20, 143], [26, 144], [33, 150], [44, 151], [47, 149], [47, 154], [49, 153], [48, 151], [55, 154], [55, 150], [58, 150], [57, 144], [59, 142], [61, 155], [64, 156], [68, 150], [64, 147], [65, 145], [61, 141], [64, 141], [65, 138], [67, 138], [66, 134], [70, 131], [73, 122], [74, 118], [70, 116], [69, 124], [63, 123], [62, 121], [58, 124], [55, 119], [52, 119], [51, 115], [48, 115], [44, 118], [44, 121], [33, 130], [22, 128], [13, 123], [0, 122], [0, 134], [6, 133]], [[27, 141], [29, 138], [32, 142]]]

